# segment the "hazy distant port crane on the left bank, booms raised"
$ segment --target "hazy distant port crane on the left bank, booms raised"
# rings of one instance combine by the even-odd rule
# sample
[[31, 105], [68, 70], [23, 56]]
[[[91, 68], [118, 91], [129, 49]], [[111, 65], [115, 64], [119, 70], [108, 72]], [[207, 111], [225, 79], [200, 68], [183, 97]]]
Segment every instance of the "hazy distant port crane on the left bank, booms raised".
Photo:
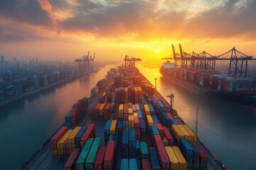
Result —
[[78, 63], [79, 70], [85, 70], [90, 67], [94, 67], [95, 53], [94, 53], [93, 57], [92, 56], [89, 57], [89, 55], [90, 55], [90, 51], [88, 51], [87, 55], [84, 55], [84, 56], [74, 60], [74, 62]]

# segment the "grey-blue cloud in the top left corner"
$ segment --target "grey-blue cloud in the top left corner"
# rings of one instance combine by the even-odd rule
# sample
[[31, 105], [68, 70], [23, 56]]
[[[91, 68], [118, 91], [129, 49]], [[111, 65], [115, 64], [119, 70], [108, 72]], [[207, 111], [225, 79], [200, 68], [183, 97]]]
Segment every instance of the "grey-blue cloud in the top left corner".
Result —
[[47, 11], [43, 11], [33, 0], [1, 0], [0, 18], [34, 26], [47, 27], [52, 24]]

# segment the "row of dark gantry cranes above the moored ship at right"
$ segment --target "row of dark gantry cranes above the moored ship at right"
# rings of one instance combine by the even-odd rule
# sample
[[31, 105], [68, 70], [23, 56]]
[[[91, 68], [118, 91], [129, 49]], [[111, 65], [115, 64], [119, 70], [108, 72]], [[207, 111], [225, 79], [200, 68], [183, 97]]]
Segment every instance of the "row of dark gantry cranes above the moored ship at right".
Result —
[[248, 61], [256, 60], [252, 56], [245, 55], [233, 47], [228, 52], [224, 52], [222, 55], [213, 56], [208, 52], [183, 52], [181, 44], [179, 45], [180, 54], [175, 52], [174, 45], [172, 46], [173, 56], [162, 58], [164, 60], [174, 60], [175, 67], [181, 68], [194, 68], [194, 69], [213, 69], [215, 70], [216, 61], [230, 61], [228, 74], [234, 74], [235, 76], [247, 77]]

